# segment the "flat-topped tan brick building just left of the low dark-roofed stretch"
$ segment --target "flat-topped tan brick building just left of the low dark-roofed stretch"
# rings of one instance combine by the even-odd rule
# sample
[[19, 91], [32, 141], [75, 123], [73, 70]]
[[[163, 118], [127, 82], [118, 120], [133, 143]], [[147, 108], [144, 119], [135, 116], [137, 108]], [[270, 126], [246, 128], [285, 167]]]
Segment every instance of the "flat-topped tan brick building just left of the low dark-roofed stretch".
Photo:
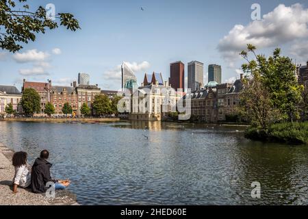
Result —
[[78, 97], [77, 114], [81, 115], [80, 110], [84, 103], [86, 103], [92, 111], [94, 97], [101, 94], [101, 88], [97, 85], [79, 85], [77, 86], [76, 91]]

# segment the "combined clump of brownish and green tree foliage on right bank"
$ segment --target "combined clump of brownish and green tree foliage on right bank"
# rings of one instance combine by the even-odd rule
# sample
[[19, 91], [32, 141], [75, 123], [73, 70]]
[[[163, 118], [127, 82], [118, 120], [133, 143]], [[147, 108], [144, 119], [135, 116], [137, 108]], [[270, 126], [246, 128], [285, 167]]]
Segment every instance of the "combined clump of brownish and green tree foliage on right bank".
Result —
[[[303, 86], [298, 85], [292, 59], [281, 56], [281, 49], [275, 49], [268, 58], [257, 55], [255, 50], [255, 46], [248, 44], [247, 51], [240, 53], [247, 61], [242, 65], [247, 74], [241, 95], [242, 112], [261, 128], [280, 120], [298, 119]], [[249, 60], [250, 54], [255, 60]]]

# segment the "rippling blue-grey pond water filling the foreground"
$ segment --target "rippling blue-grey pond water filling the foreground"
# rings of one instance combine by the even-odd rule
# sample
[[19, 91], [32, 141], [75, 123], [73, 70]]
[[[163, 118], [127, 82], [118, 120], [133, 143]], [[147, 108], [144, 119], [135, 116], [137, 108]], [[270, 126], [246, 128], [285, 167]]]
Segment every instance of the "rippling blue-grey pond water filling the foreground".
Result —
[[[0, 142], [50, 152], [82, 205], [307, 205], [308, 148], [244, 139], [242, 127], [0, 123]], [[251, 183], [261, 184], [252, 198]]]

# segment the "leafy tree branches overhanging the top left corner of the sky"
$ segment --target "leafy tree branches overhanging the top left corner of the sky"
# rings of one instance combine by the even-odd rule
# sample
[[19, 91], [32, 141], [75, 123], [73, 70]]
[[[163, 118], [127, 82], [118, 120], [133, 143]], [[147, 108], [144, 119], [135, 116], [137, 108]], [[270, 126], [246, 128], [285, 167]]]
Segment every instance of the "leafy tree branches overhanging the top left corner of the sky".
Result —
[[57, 20], [71, 31], [80, 28], [73, 14], [59, 13], [50, 17], [42, 6], [31, 11], [27, 0], [0, 0], [0, 48], [19, 51], [23, 48], [22, 43], [34, 42], [36, 34], [57, 28]]

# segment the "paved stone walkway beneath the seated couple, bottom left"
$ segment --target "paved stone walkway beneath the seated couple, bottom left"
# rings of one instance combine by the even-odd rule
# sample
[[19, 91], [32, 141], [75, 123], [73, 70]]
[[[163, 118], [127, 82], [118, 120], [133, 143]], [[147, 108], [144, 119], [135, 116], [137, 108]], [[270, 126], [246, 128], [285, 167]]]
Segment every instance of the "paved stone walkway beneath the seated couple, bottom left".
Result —
[[0, 205], [78, 205], [75, 195], [68, 190], [57, 192], [53, 200], [23, 188], [18, 188], [17, 194], [13, 194], [13, 153], [14, 151], [0, 143]]

